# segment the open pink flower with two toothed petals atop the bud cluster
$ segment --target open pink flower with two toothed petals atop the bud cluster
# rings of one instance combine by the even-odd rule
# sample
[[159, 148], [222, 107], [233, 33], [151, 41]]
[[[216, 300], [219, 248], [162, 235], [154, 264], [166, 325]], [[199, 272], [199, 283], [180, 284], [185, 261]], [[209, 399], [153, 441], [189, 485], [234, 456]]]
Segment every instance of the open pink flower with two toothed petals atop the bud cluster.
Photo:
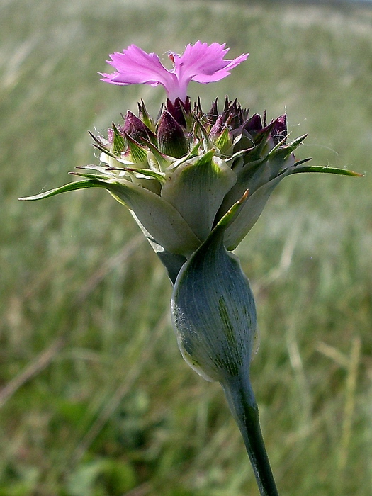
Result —
[[186, 100], [187, 86], [190, 81], [207, 84], [220, 81], [230, 74], [230, 70], [246, 60], [248, 55], [243, 53], [233, 60], [224, 60], [229, 51], [225, 43], [201, 43], [187, 45], [182, 55], [170, 52], [169, 58], [174, 64], [170, 71], [160, 62], [155, 53], [147, 53], [136, 45], [130, 45], [123, 53], [115, 52], [110, 55], [108, 64], [115, 67], [113, 74], [100, 73], [102, 81], [111, 84], [162, 84], [167, 91], [169, 100], [180, 98]]

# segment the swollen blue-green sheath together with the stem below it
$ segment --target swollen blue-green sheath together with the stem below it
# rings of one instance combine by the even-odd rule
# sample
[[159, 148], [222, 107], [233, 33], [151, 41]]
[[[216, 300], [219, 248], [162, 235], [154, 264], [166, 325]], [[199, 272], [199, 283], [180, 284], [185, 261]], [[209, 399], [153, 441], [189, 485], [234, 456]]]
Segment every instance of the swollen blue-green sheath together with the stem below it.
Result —
[[184, 359], [225, 390], [261, 496], [278, 496], [249, 381], [257, 332], [254, 297], [239, 260], [224, 246], [225, 230], [246, 200], [244, 193], [182, 266], [174, 285], [171, 313]]

